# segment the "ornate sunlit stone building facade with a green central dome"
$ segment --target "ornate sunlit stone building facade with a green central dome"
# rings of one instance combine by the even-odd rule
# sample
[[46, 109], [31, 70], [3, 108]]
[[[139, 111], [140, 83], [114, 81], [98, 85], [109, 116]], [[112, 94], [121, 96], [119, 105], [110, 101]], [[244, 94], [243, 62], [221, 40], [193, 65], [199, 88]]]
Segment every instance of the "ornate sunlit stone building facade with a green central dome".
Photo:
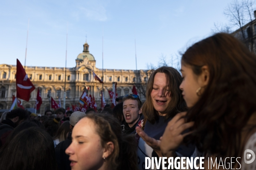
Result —
[[[24, 108], [34, 108], [37, 88], [39, 87], [42, 97], [42, 105], [37, 113], [44, 114], [44, 111], [50, 108], [50, 98], [58, 103], [61, 101], [63, 106], [65, 68], [57, 67], [30, 67], [26, 66], [26, 74], [35, 86], [31, 93], [29, 102], [23, 101]], [[93, 77], [93, 71], [102, 79], [102, 69], [96, 68], [96, 60], [89, 53], [89, 45], [84, 44], [84, 50], [76, 58], [76, 66], [66, 70], [66, 105], [78, 104], [79, 98], [84, 90], [88, 94], [93, 94], [98, 108], [101, 103], [102, 84]], [[148, 70], [103, 70], [103, 92], [106, 103], [111, 104], [108, 90], [112, 91], [113, 82], [117, 82], [116, 93], [122, 96], [131, 93], [132, 87], [136, 81], [137, 84], [147, 82], [150, 71]], [[136, 77], [138, 76], [138, 78]], [[87, 90], [89, 88], [89, 90]], [[16, 96], [16, 65], [0, 65], [0, 109], [9, 109], [12, 105], [12, 95]], [[145, 96], [140, 94], [144, 101]]]

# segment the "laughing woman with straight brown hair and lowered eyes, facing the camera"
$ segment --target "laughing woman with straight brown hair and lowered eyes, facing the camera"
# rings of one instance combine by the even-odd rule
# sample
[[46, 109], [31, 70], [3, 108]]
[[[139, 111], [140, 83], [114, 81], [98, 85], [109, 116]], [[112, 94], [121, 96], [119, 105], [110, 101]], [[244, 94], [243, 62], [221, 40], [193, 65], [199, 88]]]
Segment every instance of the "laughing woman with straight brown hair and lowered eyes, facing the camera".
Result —
[[[137, 127], [141, 136], [138, 144], [139, 168], [145, 168], [145, 157], [162, 156], [160, 137], [170, 120], [180, 112], [186, 111], [186, 103], [181, 95], [179, 85], [182, 82], [180, 73], [172, 67], [156, 69], [148, 79], [146, 101], [143, 104], [144, 131]], [[154, 139], [154, 140], [152, 140]], [[158, 140], [158, 141], [157, 141]], [[156, 141], [155, 143], [152, 141]], [[175, 154], [191, 156], [195, 147], [179, 146]]]

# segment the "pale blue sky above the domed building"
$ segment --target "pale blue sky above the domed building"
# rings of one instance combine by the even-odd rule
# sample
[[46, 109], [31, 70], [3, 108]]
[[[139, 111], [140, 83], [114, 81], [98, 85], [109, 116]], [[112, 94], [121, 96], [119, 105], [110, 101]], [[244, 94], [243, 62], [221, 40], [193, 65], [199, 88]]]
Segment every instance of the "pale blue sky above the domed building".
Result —
[[[1, 0], [0, 64], [75, 67], [86, 41], [96, 67], [147, 69], [165, 56], [212, 35], [214, 23], [228, 23], [224, 8], [232, 0]], [[68, 34], [68, 37], [67, 37]], [[175, 66], [175, 64], [173, 65]]]

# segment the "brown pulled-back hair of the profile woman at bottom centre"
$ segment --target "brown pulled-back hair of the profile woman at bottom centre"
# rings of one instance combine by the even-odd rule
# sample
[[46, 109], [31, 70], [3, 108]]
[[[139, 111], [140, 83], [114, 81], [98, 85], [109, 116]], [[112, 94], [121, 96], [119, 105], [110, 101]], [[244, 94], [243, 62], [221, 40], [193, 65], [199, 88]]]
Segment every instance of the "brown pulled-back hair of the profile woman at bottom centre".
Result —
[[102, 147], [113, 142], [114, 149], [106, 158], [108, 170], [137, 170], [137, 144], [133, 135], [122, 134], [120, 123], [106, 113], [87, 114], [96, 125], [96, 133], [100, 136]]

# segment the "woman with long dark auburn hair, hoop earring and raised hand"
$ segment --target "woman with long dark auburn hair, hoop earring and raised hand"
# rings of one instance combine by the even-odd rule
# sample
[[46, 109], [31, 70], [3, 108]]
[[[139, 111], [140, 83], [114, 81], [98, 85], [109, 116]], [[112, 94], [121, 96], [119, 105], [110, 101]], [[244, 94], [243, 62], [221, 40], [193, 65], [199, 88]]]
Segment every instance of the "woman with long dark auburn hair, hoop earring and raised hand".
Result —
[[[162, 153], [171, 155], [185, 139], [218, 164], [232, 161], [231, 168], [256, 169], [256, 161], [243, 161], [245, 150], [253, 150], [254, 158], [256, 153], [256, 56], [233, 36], [215, 34], [183, 54], [181, 73], [180, 89], [189, 111], [166, 127]], [[188, 128], [184, 122], [193, 124], [188, 136], [181, 134]]]

